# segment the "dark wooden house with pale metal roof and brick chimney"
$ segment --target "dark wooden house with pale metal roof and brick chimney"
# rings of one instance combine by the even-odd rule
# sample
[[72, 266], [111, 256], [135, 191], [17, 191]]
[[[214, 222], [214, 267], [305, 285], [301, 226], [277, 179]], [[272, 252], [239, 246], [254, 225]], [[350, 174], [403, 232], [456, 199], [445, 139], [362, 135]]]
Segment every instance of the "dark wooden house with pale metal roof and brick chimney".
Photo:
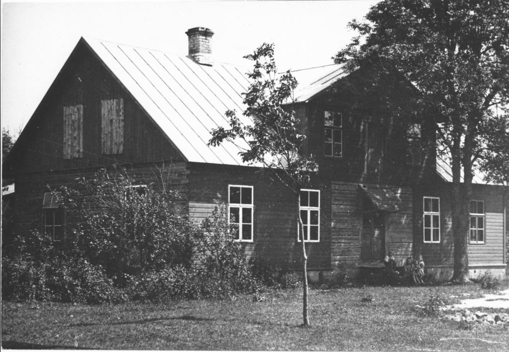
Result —
[[[207, 145], [211, 129], [227, 123], [225, 111], [243, 110], [246, 70], [213, 61], [209, 29], [186, 34], [188, 56], [79, 40], [9, 158], [18, 233], [44, 227], [65, 240], [73, 220], [45, 197], [45, 186], [73, 185], [118, 163], [140, 184], [151, 182], [155, 168], [166, 172], [197, 222], [220, 197], [249, 258], [299, 265], [290, 191], [245, 165], [237, 146]], [[307, 136], [306, 152], [319, 164], [300, 204], [310, 273], [353, 271], [391, 249], [398, 260], [422, 253], [430, 272], [449, 276], [450, 172], [435, 158], [433, 128], [352, 113], [331, 91], [348, 78], [340, 65], [292, 73], [299, 82], [292, 109]], [[423, 161], [426, 148], [433, 152]], [[502, 273], [507, 200], [498, 186], [475, 181], [471, 274]]]

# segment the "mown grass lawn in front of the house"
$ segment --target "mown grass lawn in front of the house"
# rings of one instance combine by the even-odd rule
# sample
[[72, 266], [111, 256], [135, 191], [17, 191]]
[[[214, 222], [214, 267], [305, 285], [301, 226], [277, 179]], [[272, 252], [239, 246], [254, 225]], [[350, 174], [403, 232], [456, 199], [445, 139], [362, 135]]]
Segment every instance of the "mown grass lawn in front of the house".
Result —
[[[418, 317], [430, 294], [478, 295], [474, 284], [310, 290], [310, 328], [300, 328], [300, 290], [267, 291], [236, 301], [72, 305], [2, 303], [4, 348], [213, 350], [509, 350], [501, 326], [462, 330]], [[373, 302], [362, 302], [362, 297]], [[453, 298], [454, 300], [454, 298]], [[503, 310], [509, 313], [509, 305]], [[482, 341], [484, 340], [484, 341]]]

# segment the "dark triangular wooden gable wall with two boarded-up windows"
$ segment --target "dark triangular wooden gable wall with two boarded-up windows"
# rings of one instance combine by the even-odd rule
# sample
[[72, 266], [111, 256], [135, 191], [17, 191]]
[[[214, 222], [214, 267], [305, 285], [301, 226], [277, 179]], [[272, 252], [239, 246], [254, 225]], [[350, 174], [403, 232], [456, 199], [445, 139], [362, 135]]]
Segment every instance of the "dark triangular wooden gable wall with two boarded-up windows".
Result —
[[[101, 105], [108, 102], [122, 103], [123, 121], [117, 123], [123, 126], [116, 128], [123, 128], [123, 141], [105, 149]], [[82, 139], [76, 128], [82, 130]], [[82, 150], [77, 150], [80, 146]], [[16, 173], [182, 160], [83, 41], [22, 133], [15, 153]]]

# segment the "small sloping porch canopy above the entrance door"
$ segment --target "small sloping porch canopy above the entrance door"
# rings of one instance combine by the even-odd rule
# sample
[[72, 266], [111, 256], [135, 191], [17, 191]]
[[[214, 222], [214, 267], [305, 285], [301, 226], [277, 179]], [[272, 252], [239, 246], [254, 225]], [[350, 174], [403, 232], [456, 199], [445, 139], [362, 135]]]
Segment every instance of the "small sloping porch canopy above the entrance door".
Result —
[[[359, 184], [359, 196], [364, 200], [364, 210], [383, 210], [387, 212], [399, 212], [405, 210], [405, 203], [401, 200], [401, 188], [384, 185]], [[368, 205], [368, 206], [366, 206]]]

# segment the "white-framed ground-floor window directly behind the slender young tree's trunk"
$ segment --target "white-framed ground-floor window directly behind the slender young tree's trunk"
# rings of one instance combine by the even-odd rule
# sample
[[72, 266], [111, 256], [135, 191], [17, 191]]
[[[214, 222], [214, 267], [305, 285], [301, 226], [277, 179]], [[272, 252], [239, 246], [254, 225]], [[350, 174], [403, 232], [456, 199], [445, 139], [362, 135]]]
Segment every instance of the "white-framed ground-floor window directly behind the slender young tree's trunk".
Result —
[[[304, 226], [305, 242], [320, 242], [320, 191], [318, 189], [300, 190], [300, 219]], [[300, 228], [297, 240], [300, 242]]]

